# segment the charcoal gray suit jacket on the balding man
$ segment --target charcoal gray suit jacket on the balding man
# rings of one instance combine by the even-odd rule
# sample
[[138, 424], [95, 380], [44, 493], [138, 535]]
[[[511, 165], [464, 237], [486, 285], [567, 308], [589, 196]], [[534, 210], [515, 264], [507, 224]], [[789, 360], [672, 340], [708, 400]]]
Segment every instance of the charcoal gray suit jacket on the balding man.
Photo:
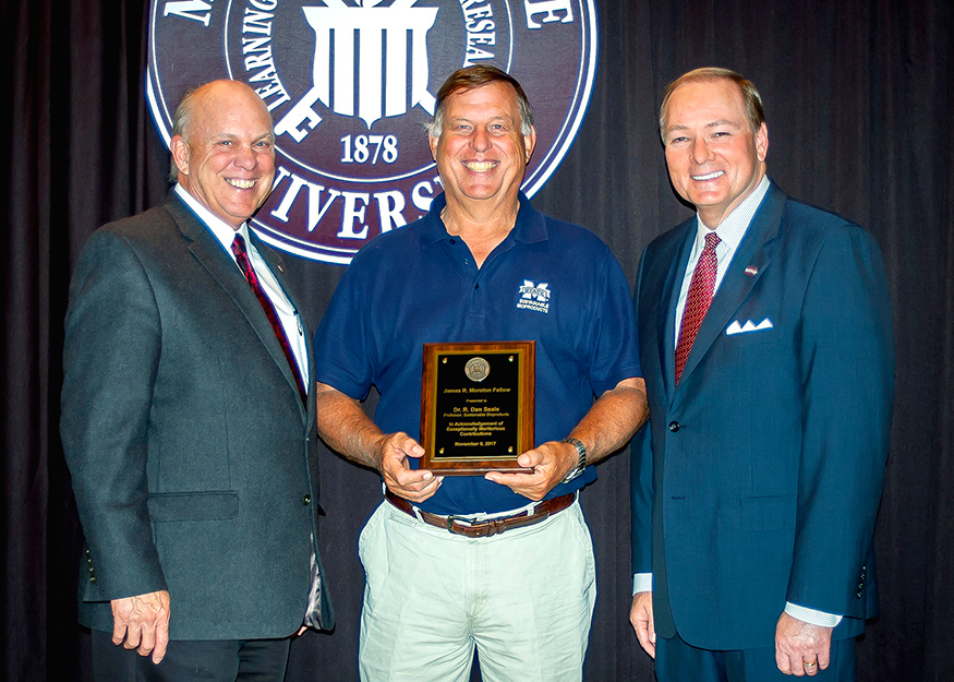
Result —
[[110, 631], [110, 599], [168, 589], [173, 639], [292, 634], [316, 537], [314, 422], [252, 289], [174, 193], [97, 230], [70, 289], [61, 420], [87, 542], [81, 622]]

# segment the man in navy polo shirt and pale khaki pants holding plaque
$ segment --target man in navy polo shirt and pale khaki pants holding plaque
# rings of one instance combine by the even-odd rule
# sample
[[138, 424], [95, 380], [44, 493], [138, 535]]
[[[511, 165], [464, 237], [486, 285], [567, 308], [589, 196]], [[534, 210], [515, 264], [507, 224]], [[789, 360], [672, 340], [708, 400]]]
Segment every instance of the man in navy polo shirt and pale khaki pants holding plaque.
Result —
[[[319, 432], [387, 487], [359, 547], [361, 678], [468, 680], [476, 646], [487, 681], [580, 680], [596, 590], [577, 492], [647, 417], [629, 288], [602, 241], [520, 192], [536, 133], [517, 81], [457, 71], [428, 133], [444, 194], [362, 249], [316, 340]], [[423, 344], [522, 339], [532, 472], [419, 468]]]

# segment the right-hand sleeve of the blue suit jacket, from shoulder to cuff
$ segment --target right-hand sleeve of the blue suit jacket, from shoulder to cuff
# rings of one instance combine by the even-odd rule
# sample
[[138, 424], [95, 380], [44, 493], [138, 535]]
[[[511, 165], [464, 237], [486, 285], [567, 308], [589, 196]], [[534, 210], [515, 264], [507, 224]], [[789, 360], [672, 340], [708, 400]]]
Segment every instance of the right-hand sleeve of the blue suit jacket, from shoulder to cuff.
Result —
[[806, 288], [792, 603], [864, 618], [864, 563], [884, 480], [894, 394], [881, 254], [856, 226], [826, 231]]

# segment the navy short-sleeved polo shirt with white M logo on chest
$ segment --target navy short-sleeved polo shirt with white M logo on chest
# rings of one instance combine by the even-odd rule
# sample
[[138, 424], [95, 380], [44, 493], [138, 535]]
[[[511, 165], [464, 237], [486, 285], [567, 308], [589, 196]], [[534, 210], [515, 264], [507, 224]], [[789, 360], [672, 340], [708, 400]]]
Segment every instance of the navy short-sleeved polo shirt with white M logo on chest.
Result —
[[[375, 423], [420, 440], [423, 344], [532, 339], [536, 443], [566, 438], [594, 396], [642, 375], [619, 263], [595, 235], [543, 215], [521, 193], [514, 229], [478, 268], [467, 244], [447, 234], [445, 205], [436, 196], [426, 216], [354, 256], [316, 334], [317, 381], [355, 399], [374, 385]], [[588, 467], [547, 496], [595, 478]], [[527, 503], [481, 476], [448, 476], [420, 507], [470, 514]]]

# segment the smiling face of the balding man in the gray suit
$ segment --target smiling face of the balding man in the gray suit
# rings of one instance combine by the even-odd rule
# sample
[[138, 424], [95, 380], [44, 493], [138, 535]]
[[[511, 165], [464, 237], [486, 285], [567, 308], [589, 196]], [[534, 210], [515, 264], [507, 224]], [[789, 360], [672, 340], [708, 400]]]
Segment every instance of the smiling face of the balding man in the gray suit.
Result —
[[271, 191], [271, 119], [262, 99], [241, 83], [216, 81], [195, 96], [188, 129], [171, 143], [179, 184], [238, 229]]

